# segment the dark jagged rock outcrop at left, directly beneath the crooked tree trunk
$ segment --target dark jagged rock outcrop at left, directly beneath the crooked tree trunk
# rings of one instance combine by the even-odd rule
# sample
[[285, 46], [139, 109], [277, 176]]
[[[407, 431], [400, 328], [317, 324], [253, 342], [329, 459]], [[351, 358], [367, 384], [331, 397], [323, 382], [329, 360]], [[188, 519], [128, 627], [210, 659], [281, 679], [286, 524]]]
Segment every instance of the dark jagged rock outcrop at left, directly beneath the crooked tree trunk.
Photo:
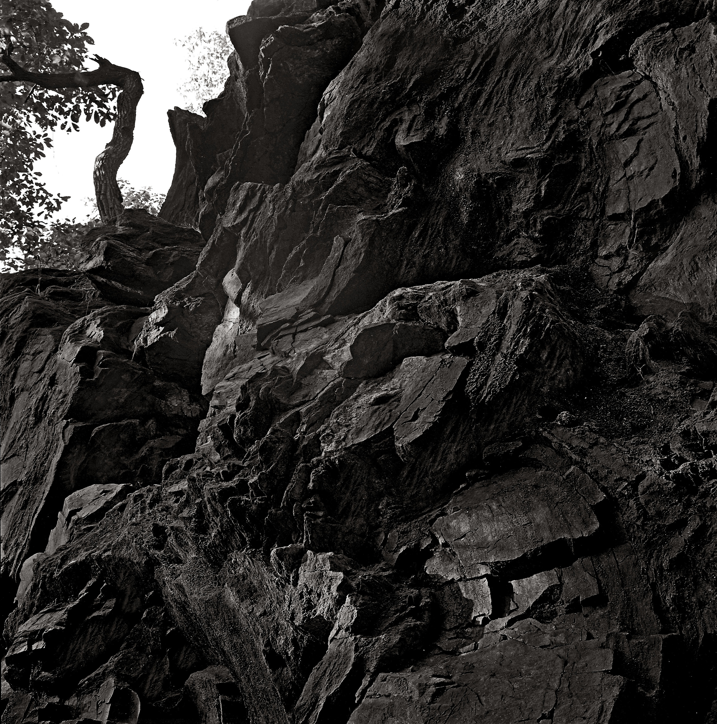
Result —
[[[204, 400], [133, 361], [154, 293], [196, 264], [201, 237], [127, 211], [96, 227], [81, 271], [4, 275], [2, 575], [45, 550], [64, 499], [160, 479], [190, 450]], [[134, 303], [135, 306], [132, 305]]]

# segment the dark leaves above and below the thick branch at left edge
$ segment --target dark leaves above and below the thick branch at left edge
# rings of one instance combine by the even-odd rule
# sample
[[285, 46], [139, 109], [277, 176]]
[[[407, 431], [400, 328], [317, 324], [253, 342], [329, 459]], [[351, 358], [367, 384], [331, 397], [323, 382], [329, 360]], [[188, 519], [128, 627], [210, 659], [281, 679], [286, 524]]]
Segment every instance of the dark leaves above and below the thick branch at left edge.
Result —
[[[12, 59], [33, 72], [79, 70], [92, 38], [49, 0], [0, 0], [0, 33]], [[20, 248], [27, 256], [67, 196], [47, 190], [35, 161], [51, 148], [50, 132], [80, 130], [80, 117], [104, 126], [114, 119], [117, 88], [46, 90], [24, 81], [0, 83], [0, 263]], [[39, 252], [38, 252], [39, 253]]]

